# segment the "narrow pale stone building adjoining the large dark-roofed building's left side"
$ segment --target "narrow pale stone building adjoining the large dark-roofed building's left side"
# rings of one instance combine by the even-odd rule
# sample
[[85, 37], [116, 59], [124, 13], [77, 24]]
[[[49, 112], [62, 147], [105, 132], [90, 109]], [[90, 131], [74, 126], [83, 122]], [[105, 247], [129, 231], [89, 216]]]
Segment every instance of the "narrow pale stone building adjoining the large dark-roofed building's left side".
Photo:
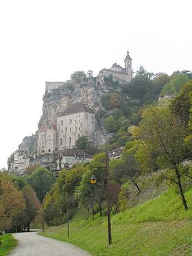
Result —
[[43, 125], [38, 131], [37, 154], [53, 153], [57, 149], [57, 129], [53, 124]]

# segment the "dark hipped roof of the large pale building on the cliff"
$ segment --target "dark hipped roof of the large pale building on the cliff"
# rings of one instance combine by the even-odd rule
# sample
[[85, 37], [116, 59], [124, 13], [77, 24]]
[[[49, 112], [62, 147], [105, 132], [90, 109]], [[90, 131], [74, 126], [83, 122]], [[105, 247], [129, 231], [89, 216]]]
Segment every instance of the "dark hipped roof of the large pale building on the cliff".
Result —
[[68, 106], [62, 113], [58, 115], [58, 117], [63, 117], [64, 115], [71, 115], [76, 113], [92, 113], [94, 114], [93, 110], [91, 108], [88, 108], [82, 102], [77, 102], [75, 104], [71, 104]]

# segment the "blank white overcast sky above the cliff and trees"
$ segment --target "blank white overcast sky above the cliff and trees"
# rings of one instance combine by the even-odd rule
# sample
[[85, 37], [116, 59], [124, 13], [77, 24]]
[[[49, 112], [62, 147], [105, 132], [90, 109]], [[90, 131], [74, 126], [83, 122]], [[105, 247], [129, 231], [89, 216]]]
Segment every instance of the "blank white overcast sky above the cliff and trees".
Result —
[[45, 81], [74, 71], [192, 67], [191, 0], [1, 0], [0, 169], [42, 115]]

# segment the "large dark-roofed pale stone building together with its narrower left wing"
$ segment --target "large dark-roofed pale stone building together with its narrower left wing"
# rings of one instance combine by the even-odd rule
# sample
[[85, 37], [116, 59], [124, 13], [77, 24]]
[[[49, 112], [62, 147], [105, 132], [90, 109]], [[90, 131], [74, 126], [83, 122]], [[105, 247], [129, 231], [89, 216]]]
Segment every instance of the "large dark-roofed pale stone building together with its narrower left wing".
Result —
[[43, 125], [38, 131], [38, 155], [75, 148], [79, 137], [93, 137], [96, 128], [95, 113], [82, 102], [68, 106], [58, 115], [56, 123], [56, 126]]

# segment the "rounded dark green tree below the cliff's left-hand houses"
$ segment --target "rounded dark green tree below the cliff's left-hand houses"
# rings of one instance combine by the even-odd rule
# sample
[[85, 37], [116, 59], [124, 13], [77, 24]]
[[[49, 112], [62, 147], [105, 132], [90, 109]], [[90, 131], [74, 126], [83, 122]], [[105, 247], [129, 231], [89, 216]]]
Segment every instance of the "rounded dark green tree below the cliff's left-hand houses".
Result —
[[56, 178], [45, 167], [38, 167], [32, 175], [26, 176], [25, 181], [36, 191], [38, 200], [43, 202], [43, 198], [53, 187]]

